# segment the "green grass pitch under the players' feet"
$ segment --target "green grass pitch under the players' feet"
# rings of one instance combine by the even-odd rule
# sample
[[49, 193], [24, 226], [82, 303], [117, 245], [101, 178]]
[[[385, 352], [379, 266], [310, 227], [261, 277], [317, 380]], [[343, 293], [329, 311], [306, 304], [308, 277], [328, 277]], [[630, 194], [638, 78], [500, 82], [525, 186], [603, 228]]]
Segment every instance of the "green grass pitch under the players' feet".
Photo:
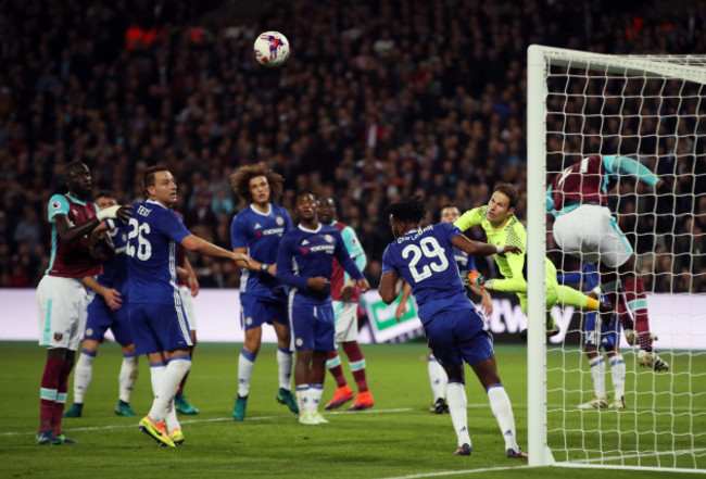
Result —
[[[364, 345], [368, 383], [376, 405], [365, 412], [325, 412], [328, 425], [301, 426], [297, 417], [275, 401], [277, 365], [275, 346], [264, 345], [257, 357], [243, 423], [231, 419], [236, 395], [237, 357], [241, 344], [199, 344], [187, 383], [189, 401], [200, 408], [197, 416], [181, 416], [186, 443], [177, 450], [156, 446], [138, 432], [139, 418], [116, 417], [119, 348], [103, 344], [93, 363], [93, 379], [86, 396], [84, 417], [64, 419], [64, 430], [78, 444], [38, 446], [34, 436], [39, 415], [39, 379], [46, 351], [31, 343], [0, 343], [0, 477], [14, 478], [417, 478], [481, 477], [494, 474], [502, 478], [573, 478], [608, 474], [612, 479], [640, 477], [664, 478], [664, 472], [634, 470], [598, 471], [559, 467], [527, 468], [527, 461], [505, 458], [503, 439], [490, 411], [484, 391], [467, 368], [468, 426], [474, 452], [470, 457], [456, 457], [456, 438], [449, 415], [429, 413], [431, 392], [427, 379], [426, 346], [421, 342], [406, 344]], [[527, 361], [525, 346], [497, 345], [500, 375], [513, 402], [518, 439], [527, 449]], [[554, 377], [552, 368], [562, 357], [576, 373]], [[688, 356], [675, 361], [678, 366]], [[550, 393], [550, 442], [560, 451], [558, 461], [594, 458], [581, 452], [582, 445], [605, 451], [640, 448], [655, 449], [665, 429], [686, 431], [683, 415], [661, 414], [681, 407], [691, 395], [697, 413], [693, 431], [706, 430], [706, 358], [692, 358], [692, 377], [671, 375], [655, 377], [652, 373], [634, 373], [634, 356], [626, 353], [628, 363], [628, 403], [621, 413], [557, 412], [562, 401], [576, 404], [590, 399], [591, 388], [585, 361], [578, 351], [550, 354], [550, 390], [557, 381], [562, 388]], [[345, 361], [344, 361], [345, 364]], [[685, 364], [685, 363], [682, 363]], [[350, 378], [350, 373], [346, 369]], [[632, 371], [632, 373], [631, 373]], [[608, 379], [609, 389], [609, 379]], [[333, 381], [326, 378], [323, 401], [333, 391]], [[638, 390], [638, 394], [633, 391]], [[650, 391], [657, 391], [652, 394]], [[72, 401], [72, 385], [70, 399]], [[666, 393], [692, 394], [677, 395]], [[694, 396], [694, 393], [696, 395]], [[699, 393], [702, 395], [699, 395]], [[656, 398], [656, 399], [654, 399]], [[679, 398], [679, 399], [673, 399]], [[654, 399], [654, 401], [653, 401]], [[636, 403], [636, 404], [635, 404]], [[151, 404], [151, 387], [146, 358], [140, 358], [140, 377], [130, 404], [138, 414], [146, 414]], [[636, 407], [635, 407], [636, 406]], [[647, 418], [643, 425], [642, 418]], [[571, 429], [566, 437], [554, 431], [560, 426]], [[620, 432], [622, 428], [626, 432]], [[588, 432], [581, 432], [588, 431]], [[653, 432], [651, 432], [653, 431]], [[657, 431], [657, 432], [654, 432]], [[645, 438], [640, 439], [641, 436]], [[692, 438], [692, 442], [690, 442]], [[680, 457], [667, 464], [655, 454], [642, 464], [661, 464], [706, 469], [704, 436], [679, 436], [676, 449], [696, 449], [694, 456]], [[701, 439], [699, 439], [701, 438]], [[657, 448], [659, 451], [659, 448]], [[627, 462], [630, 459], [627, 458]], [[615, 463], [614, 464], [618, 464]], [[634, 463], [636, 464], [636, 463]], [[679, 474], [680, 478], [704, 477], [703, 474]], [[573, 479], [572, 478], [572, 479]]]

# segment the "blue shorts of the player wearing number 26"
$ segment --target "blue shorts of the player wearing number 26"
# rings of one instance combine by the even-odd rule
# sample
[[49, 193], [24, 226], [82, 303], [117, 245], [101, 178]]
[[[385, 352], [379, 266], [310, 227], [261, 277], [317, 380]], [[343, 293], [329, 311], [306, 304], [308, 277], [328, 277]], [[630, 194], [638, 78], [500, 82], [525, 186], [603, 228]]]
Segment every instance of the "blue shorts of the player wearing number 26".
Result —
[[130, 303], [130, 325], [137, 354], [192, 346], [189, 322], [181, 304]]

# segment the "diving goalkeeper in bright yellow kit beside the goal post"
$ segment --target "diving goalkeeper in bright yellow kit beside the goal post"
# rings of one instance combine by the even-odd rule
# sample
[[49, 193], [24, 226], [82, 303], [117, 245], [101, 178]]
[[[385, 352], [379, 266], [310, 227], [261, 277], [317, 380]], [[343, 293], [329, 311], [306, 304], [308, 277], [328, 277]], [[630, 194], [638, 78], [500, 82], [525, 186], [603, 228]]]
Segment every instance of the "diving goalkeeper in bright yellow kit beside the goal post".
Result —
[[[525, 259], [527, 255], [527, 230], [515, 216], [515, 206], [519, 200], [517, 189], [510, 184], [495, 187], [487, 206], [480, 206], [464, 213], [454, 225], [462, 231], [480, 225], [486, 231], [489, 244], [516, 245], [522, 249], [520, 254], [494, 254], [495, 263], [503, 279], [486, 279], [478, 272], [470, 272], [464, 282], [480, 286], [487, 290], [514, 292], [519, 298], [520, 306], [527, 315], [527, 278], [525, 277]], [[580, 291], [559, 285], [556, 280], [556, 267], [549, 259], [546, 267], [546, 311], [555, 304], [569, 305], [581, 311], [597, 311], [601, 319], [609, 324], [614, 311], [608, 303], [601, 303]], [[552, 315], [547, 314], [546, 332], [554, 336], [559, 328]]]

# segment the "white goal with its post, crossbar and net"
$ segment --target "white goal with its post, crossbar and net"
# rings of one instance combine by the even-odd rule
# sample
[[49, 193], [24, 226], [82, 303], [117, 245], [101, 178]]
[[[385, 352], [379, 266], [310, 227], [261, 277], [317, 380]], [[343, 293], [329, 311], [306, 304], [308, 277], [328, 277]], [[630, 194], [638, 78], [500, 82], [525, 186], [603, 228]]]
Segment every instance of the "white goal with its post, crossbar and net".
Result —
[[[544, 207], [545, 191], [554, 175], [575, 163], [577, 157], [621, 155], [651, 169], [657, 164], [664, 169], [667, 160], [673, 160], [670, 178], [675, 184], [680, 182], [679, 188], [685, 188], [682, 182], [692, 185], [692, 190], [682, 190], [681, 194], [688, 201], [675, 200], [673, 211], [665, 217], [673, 216], [676, 219], [669, 219], [673, 224], [686, 222], [691, 229], [684, 232], [672, 227], [670, 232], [661, 235], [655, 226], [651, 235], [643, 236], [650, 236], [654, 244], [666, 241], [670, 247], [663, 248], [666, 250], [663, 256], [669, 261], [693, 265], [693, 260], [689, 263], [689, 257], [693, 257], [690, 251], [679, 248], [693, 244], [694, 239], [689, 235], [695, 231], [697, 215], [706, 214], [706, 191], [694, 189], [694, 185], [704, 185], [703, 172], [706, 169], [706, 55], [608, 55], [530, 46], [527, 72], [529, 465], [640, 467], [706, 474], [704, 351], [664, 350], [657, 341], [655, 351], [671, 365], [668, 371], [658, 373], [636, 367], [638, 346], [622, 349], [628, 370], [628, 407], [623, 411], [583, 411], [577, 405], [581, 398], [584, 401], [592, 395], [593, 386], [588, 360], [576, 341], [582, 338], [581, 326], [575, 325], [573, 330], [568, 331], [567, 338], [572, 335], [575, 339], [571, 344], [564, 340], [547, 345], [544, 333], [547, 313], [544, 259], [547, 253], [553, 257], [569, 257], [557, 249], [547, 248], [552, 229]], [[660, 106], [651, 111], [650, 106], [663, 105], [663, 101], [675, 108], [668, 113]], [[553, 119], [550, 122], [547, 118]], [[560, 122], [563, 126], [557, 128]], [[597, 128], [591, 127], [591, 123], [598, 125]], [[686, 131], [688, 140], [680, 139], [683, 131]], [[644, 150], [653, 148], [653, 144], [654, 151], [645, 154]], [[688, 154], [689, 162], [680, 157], [680, 153], [684, 157]], [[691, 184], [689, 178], [680, 179], [684, 175], [692, 176]], [[656, 210], [658, 199], [652, 189], [634, 187], [632, 193], [635, 198], [640, 194], [653, 197], [654, 203], [651, 204], [654, 209], [647, 213], [654, 218], [659, 215]], [[614, 217], [615, 202], [621, 201], [618, 197], [612, 197]], [[641, 220], [643, 203], [640, 198], [634, 203], [638, 204], [636, 211], [632, 210], [631, 216], [625, 218], [618, 214], [618, 224], [621, 219], [626, 224], [634, 218], [635, 224]], [[655, 225], [657, 220], [654, 219]], [[625, 230], [623, 226], [623, 232], [631, 241], [640, 238], [644, 245], [647, 239], [641, 237], [641, 231], [638, 226], [633, 230]], [[636, 263], [643, 270], [656, 267], [657, 263], [655, 253], [645, 250], [635, 249]], [[564, 260], [556, 264], [559, 272], [564, 266]], [[706, 325], [706, 294], [695, 287], [706, 279], [704, 270], [692, 268], [684, 270], [682, 276], [676, 274], [672, 277], [675, 286], [664, 294], [669, 295], [666, 300], [679, 302], [680, 297], [676, 295], [679, 283], [688, 289], [683, 294], [690, 299], [699, 295], [697, 300], [703, 300], [703, 307], [694, 315]], [[652, 277], [659, 279], [654, 274]], [[704, 330], [694, 331], [692, 341], [694, 344], [696, 341], [706, 343]], [[607, 371], [606, 377], [609, 386]]]

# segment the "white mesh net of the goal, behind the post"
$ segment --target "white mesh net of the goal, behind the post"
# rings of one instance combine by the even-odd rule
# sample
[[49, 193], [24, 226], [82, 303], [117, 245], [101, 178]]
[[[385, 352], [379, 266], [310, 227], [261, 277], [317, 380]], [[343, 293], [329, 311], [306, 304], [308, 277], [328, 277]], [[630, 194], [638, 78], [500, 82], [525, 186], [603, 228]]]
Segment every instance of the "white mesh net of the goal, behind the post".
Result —
[[[704, 56], [557, 54], [549, 62], [547, 185], [589, 155], [636, 160], [665, 182], [655, 190], [621, 175], [608, 207], [635, 253], [651, 331], [659, 338], [654, 350], [670, 366], [640, 367], [639, 345], [628, 345], [621, 333], [627, 407], [581, 408], [595, 395], [582, 346], [591, 333], [584, 331], [588, 314], [571, 318], [570, 306], [564, 314], [554, 310], [563, 333], [547, 348], [546, 389], [556, 461], [706, 469], [705, 85]], [[547, 256], [559, 274], [581, 270], [581, 260], [558, 248], [552, 228], [549, 219]], [[585, 277], [571, 286], [588, 289]], [[610, 404], [614, 366], [603, 357]]]

